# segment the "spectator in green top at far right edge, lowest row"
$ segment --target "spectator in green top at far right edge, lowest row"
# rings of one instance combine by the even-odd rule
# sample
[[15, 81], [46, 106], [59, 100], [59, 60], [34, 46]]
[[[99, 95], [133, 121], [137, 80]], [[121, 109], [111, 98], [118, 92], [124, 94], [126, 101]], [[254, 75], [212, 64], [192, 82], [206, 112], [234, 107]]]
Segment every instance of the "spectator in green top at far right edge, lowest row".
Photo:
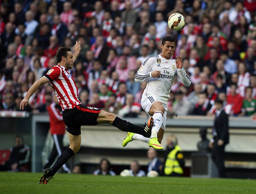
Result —
[[242, 112], [238, 116], [254, 116], [256, 113], [256, 99], [252, 98], [252, 88], [246, 88], [246, 96], [243, 99]]

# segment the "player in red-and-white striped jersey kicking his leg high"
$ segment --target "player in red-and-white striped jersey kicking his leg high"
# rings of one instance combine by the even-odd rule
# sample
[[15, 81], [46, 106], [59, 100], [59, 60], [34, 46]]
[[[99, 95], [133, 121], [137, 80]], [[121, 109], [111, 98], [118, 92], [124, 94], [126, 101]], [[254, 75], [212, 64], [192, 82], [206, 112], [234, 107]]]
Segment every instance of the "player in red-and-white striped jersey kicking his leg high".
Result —
[[153, 126], [153, 118], [150, 117], [144, 127], [133, 125], [112, 113], [100, 110], [96, 107], [86, 107], [78, 99], [78, 90], [74, 79], [69, 74], [73, 63], [81, 50], [80, 42], [76, 42], [75, 53], [72, 54], [69, 47], [62, 47], [56, 54], [57, 65], [48, 71], [46, 75], [33, 83], [25, 98], [20, 102], [20, 109], [28, 105], [30, 96], [43, 84], [50, 82], [62, 107], [62, 117], [67, 126], [70, 146], [60, 155], [51, 168], [46, 168], [39, 184], [47, 184], [53, 175], [80, 149], [81, 126], [98, 125], [108, 123], [122, 131], [132, 131], [146, 137], [150, 137]]

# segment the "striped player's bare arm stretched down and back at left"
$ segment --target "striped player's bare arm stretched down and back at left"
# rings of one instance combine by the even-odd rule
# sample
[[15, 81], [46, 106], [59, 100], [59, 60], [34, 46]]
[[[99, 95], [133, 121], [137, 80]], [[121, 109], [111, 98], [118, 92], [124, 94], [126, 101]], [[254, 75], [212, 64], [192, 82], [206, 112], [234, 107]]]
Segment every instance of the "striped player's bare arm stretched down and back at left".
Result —
[[34, 82], [33, 85], [29, 88], [25, 98], [20, 102], [19, 109], [24, 110], [24, 106], [28, 105], [28, 101], [29, 101], [29, 98], [31, 97], [31, 95], [34, 92], [36, 92], [36, 90], [40, 86], [42, 86], [43, 84], [45, 84], [47, 82], [49, 82], [49, 80], [44, 76], [42, 78], [40, 78], [39, 80], [37, 80], [36, 82]]

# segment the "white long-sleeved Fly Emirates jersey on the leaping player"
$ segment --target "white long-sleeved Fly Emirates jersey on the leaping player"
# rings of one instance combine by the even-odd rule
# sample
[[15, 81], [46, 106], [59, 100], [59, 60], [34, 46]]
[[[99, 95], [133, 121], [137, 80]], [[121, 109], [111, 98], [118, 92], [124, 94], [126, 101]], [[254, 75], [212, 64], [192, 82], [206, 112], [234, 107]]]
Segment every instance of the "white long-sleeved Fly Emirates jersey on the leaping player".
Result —
[[[153, 78], [151, 72], [154, 70], [161, 71], [159, 78]], [[178, 76], [184, 86], [190, 86], [191, 79], [186, 74], [184, 68], [177, 69], [174, 59], [166, 59], [161, 55], [147, 57], [135, 74], [136, 82], [147, 80], [147, 87], [144, 90], [142, 98], [148, 96], [157, 96], [162, 102], [167, 104], [170, 98], [169, 93], [174, 78]]]

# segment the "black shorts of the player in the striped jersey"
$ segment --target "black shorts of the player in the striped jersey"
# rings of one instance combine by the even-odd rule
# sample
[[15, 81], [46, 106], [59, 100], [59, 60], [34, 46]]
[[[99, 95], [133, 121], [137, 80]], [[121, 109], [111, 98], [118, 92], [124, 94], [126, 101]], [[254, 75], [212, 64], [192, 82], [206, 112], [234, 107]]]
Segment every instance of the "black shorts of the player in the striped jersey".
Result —
[[98, 125], [97, 118], [100, 111], [100, 108], [86, 107], [81, 104], [73, 109], [63, 111], [62, 116], [67, 131], [74, 136], [78, 136], [81, 134], [82, 125]]

